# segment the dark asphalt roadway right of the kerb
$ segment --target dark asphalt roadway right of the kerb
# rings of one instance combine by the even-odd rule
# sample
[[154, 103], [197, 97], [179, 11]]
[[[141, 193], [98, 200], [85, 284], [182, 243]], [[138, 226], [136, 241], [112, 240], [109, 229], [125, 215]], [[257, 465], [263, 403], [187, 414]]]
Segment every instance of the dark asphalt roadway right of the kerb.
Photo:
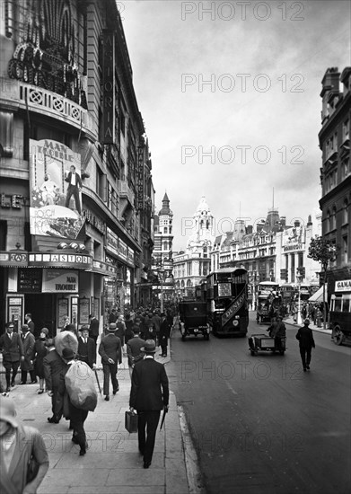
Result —
[[[267, 327], [250, 313], [249, 335]], [[297, 329], [286, 329], [285, 356], [255, 357], [247, 338], [183, 342], [173, 332], [171, 386], [208, 494], [350, 491], [351, 348], [314, 331], [303, 373]]]

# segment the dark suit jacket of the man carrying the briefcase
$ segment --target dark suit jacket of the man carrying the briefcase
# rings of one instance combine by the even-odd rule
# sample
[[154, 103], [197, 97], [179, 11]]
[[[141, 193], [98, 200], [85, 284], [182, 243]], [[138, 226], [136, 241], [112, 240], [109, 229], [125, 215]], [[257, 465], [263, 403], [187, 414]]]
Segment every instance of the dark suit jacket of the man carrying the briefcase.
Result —
[[137, 362], [132, 374], [129, 406], [137, 411], [163, 410], [168, 406], [170, 390], [165, 368], [154, 358]]

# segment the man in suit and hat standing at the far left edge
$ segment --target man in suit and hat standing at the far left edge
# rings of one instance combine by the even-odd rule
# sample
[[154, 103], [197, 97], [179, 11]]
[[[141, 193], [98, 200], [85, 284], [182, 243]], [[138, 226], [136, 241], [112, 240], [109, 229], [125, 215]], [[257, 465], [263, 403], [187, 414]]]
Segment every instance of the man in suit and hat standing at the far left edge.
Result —
[[[0, 338], [0, 351], [3, 353], [3, 364], [6, 378], [6, 391], [9, 392], [10, 381], [14, 386], [14, 379], [16, 378], [18, 367], [20, 366], [23, 357], [23, 345], [21, 337], [18, 333], [13, 332], [13, 322], [7, 322], [6, 332]], [[13, 371], [13, 377], [11, 378], [11, 371]]]

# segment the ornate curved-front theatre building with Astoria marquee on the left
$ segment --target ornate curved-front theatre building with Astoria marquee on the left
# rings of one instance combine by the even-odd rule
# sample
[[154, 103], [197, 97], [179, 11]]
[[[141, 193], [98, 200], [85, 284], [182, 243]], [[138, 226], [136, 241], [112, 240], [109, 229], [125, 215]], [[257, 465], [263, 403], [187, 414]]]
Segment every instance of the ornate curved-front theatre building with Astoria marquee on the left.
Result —
[[150, 154], [118, 8], [3, 7], [1, 331], [25, 313], [50, 335], [91, 313], [102, 329], [112, 307], [136, 304], [153, 247]]

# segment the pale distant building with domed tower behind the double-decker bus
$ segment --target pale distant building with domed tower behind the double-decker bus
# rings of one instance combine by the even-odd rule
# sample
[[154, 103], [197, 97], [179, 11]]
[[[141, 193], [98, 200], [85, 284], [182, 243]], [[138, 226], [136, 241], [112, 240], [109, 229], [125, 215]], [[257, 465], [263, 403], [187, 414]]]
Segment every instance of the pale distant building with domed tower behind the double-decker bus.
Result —
[[175, 295], [180, 299], [195, 296], [195, 287], [210, 272], [215, 218], [203, 196], [193, 216], [193, 233], [189, 236], [186, 251], [173, 256]]

